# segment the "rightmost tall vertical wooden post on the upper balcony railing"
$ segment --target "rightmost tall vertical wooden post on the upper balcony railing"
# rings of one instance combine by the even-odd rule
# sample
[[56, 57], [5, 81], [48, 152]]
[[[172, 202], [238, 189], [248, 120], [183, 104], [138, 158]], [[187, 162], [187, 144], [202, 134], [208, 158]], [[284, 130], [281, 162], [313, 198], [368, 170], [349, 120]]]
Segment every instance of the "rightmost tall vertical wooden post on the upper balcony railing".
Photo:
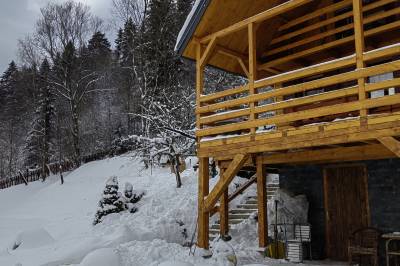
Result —
[[[364, 62], [365, 39], [364, 39], [362, 0], [353, 0], [353, 16], [354, 16], [354, 36], [355, 36], [357, 69], [362, 69], [365, 67], [365, 62]], [[358, 82], [358, 100], [363, 101], [366, 98], [365, 78], [359, 78], [357, 79], [357, 82]], [[360, 109], [360, 117], [361, 117], [361, 125], [365, 126], [367, 109], [365, 108]]]

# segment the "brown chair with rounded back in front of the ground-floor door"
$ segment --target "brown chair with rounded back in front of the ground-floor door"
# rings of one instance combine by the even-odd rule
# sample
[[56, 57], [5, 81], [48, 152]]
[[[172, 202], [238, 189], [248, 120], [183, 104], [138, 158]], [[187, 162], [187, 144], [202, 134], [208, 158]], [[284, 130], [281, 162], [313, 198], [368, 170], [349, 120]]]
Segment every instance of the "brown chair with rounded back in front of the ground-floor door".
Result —
[[349, 237], [349, 265], [353, 258], [359, 257], [358, 265], [361, 265], [362, 257], [369, 257], [374, 266], [378, 266], [378, 243], [380, 231], [373, 227], [365, 227], [355, 230]]

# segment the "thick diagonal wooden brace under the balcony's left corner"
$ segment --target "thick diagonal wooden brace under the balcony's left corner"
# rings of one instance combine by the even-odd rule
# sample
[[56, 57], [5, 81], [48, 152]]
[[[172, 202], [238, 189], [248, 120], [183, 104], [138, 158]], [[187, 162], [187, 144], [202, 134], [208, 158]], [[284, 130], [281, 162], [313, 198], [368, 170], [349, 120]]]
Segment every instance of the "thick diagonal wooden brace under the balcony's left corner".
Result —
[[210, 194], [204, 200], [204, 207], [206, 211], [211, 210], [218, 199], [221, 197], [222, 193], [228, 188], [232, 179], [242, 168], [243, 164], [246, 162], [248, 155], [246, 153], [237, 154], [229, 167], [224, 171], [224, 175], [220, 177], [217, 184], [214, 186]]

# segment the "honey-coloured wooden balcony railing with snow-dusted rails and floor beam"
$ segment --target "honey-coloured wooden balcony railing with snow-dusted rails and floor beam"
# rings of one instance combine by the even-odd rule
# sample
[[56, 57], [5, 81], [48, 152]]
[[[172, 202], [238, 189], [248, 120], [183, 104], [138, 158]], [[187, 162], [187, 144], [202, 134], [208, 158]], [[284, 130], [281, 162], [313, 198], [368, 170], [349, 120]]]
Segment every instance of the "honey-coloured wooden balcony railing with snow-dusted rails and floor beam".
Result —
[[[202, 95], [199, 157], [230, 160], [238, 153], [270, 156], [342, 144], [367, 159], [395, 156], [379, 138], [400, 135], [399, 55], [400, 44], [390, 45], [364, 53], [362, 69], [353, 55], [255, 81], [255, 93], [245, 85]], [[379, 75], [386, 78], [373, 82]], [[366, 81], [365, 99], [359, 79]], [[373, 97], [377, 91], [380, 97]], [[286, 159], [270, 162], [293, 160]]]

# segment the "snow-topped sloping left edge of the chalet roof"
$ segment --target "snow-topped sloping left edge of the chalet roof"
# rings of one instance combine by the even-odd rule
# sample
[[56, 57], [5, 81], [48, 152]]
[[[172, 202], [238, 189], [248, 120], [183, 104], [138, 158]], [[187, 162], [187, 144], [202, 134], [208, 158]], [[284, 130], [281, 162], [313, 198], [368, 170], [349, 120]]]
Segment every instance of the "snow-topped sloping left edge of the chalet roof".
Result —
[[183, 50], [186, 48], [186, 45], [188, 44], [193, 32], [196, 30], [196, 27], [209, 3], [210, 0], [196, 0], [193, 4], [192, 10], [187, 16], [186, 21], [178, 34], [178, 38], [176, 39], [175, 51], [179, 54], [182, 54]]

